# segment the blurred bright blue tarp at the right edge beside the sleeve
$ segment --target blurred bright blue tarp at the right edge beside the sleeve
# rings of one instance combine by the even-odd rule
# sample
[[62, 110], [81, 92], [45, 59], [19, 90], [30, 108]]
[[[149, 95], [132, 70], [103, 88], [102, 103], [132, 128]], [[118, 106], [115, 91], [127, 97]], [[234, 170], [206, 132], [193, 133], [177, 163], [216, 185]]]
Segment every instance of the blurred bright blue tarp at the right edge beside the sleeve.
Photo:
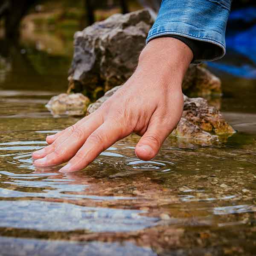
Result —
[[[245, 26], [236, 28], [242, 22]], [[256, 79], [256, 7], [235, 10], [230, 13], [226, 33], [227, 54], [220, 61], [208, 62], [209, 67], [233, 76]], [[240, 56], [236, 64], [229, 62], [232, 55]], [[241, 60], [241, 61], [239, 61]], [[232, 63], [232, 64], [231, 64]]]

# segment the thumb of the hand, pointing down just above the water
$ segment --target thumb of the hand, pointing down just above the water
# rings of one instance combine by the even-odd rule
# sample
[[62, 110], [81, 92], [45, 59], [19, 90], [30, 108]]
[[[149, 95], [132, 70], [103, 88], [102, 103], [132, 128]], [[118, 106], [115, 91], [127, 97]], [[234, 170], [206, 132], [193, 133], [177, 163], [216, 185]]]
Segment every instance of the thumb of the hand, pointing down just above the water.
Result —
[[136, 145], [135, 154], [137, 157], [145, 161], [154, 158], [169, 133], [169, 129], [163, 128], [160, 123], [149, 124], [147, 131]]

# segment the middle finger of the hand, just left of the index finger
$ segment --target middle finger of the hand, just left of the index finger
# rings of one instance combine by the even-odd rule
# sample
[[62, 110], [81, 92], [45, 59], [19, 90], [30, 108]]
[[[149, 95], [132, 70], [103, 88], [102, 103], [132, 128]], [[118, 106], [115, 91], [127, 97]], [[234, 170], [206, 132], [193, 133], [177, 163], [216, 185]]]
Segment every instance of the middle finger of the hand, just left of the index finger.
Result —
[[72, 132], [67, 134], [65, 139], [63, 138], [64, 136], [62, 138], [60, 137], [59, 139], [62, 139], [61, 142], [58, 139], [45, 148], [47, 152], [46, 156], [35, 160], [34, 166], [49, 167], [67, 162], [81, 148], [90, 134], [101, 124], [102, 118], [100, 116], [94, 116], [81, 125], [73, 125], [70, 129]]

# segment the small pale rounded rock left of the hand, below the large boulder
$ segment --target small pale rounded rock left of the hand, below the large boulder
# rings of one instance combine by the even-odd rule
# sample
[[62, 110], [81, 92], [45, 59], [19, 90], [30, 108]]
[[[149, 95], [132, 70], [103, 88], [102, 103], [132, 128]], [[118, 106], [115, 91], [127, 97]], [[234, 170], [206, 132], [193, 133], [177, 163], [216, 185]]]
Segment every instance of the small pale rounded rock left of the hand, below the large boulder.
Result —
[[53, 96], [45, 105], [52, 115], [81, 116], [85, 113], [90, 100], [81, 93], [61, 93]]

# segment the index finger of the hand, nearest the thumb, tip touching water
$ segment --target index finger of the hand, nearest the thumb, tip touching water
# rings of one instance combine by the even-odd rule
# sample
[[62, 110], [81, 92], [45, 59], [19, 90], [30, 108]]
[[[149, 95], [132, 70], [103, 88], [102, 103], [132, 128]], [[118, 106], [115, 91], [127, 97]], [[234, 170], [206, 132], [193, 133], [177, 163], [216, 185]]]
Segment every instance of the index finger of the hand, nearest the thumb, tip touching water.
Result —
[[75, 172], [84, 169], [102, 151], [109, 148], [116, 141], [128, 136], [131, 131], [124, 131], [122, 125], [113, 125], [113, 122], [104, 122], [94, 131], [79, 149], [69, 163], [60, 169], [60, 172]]

